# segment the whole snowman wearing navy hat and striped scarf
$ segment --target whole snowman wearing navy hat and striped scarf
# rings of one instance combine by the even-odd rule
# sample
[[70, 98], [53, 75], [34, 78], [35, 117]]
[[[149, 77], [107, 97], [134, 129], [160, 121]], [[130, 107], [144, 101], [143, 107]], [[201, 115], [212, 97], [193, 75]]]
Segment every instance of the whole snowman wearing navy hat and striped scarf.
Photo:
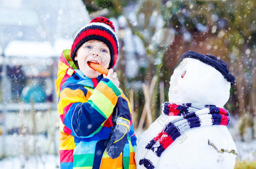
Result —
[[233, 169], [235, 143], [223, 107], [235, 78], [213, 55], [183, 54], [170, 78], [169, 103], [137, 144], [137, 169]]

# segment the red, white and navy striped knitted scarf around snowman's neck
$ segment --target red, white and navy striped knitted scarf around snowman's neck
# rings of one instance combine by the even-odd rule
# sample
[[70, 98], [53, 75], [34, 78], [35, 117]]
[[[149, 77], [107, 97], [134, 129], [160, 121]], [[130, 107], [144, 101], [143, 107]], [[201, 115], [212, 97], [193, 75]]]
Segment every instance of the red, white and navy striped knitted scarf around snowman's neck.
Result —
[[229, 123], [229, 113], [225, 108], [214, 105], [198, 105], [194, 103], [165, 103], [163, 113], [168, 116], [178, 116], [164, 126], [162, 131], [145, 147], [145, 156], [139, 165], [146, 169], [154, 169], [165, 149], [185, 131], [194, 127], [225, 125]]

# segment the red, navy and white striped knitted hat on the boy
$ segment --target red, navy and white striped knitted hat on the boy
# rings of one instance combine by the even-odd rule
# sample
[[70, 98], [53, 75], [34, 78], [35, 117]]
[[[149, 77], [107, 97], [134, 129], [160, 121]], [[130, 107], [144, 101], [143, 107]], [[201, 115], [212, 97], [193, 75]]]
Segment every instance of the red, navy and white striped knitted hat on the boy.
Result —
[[71, 58], [77, 66], [77, 61], [74, 60], [78, 49], [86, 41], [95, 39], [104, 42], [110, 50], [110, 66], [114, 67], [118, 58], [118, 38], [115, 35], [115, 27], [112, 22], [105, 17], [96, 17], [76, 33], [76, 38], [73, 41], [71, 48]]

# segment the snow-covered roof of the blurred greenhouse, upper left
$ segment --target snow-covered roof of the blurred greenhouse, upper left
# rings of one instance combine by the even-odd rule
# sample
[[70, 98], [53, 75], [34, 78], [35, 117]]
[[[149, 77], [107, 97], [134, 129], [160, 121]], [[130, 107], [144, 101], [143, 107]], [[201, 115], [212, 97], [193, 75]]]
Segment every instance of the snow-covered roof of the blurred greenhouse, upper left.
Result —
[[59, 57], [71, 48], [76, 30], [91, 20], [81, 0], [14, 2], [4, 0], [0, 7], [0, 41], [8, 57]]

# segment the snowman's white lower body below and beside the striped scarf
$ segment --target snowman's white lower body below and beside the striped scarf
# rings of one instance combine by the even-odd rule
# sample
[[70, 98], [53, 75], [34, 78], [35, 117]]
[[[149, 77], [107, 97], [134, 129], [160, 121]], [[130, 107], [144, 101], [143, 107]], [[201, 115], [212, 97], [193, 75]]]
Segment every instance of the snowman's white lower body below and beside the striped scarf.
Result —
[[[163, 125], [159, 119], [168, 118], [168, 123], [172, 117], [161, 115], [149, 126], [149, 129], [141, 135], [136, 149], [136, 164], [144, 153], [143, 148], [149, 141], [156, 136]], [[225, 138], [223, 138], [225, 136]], [[222, 138], [222, 139], [219, 139]], [[161, 155], [156, 169], [184, 169], [184, 168], [201, 168], [206, 166], [207, 169], [225, 168], [231, 169], [235, 164], [234, 154], [219, 154], [215, 149], [208, 145], [208, 139], [214, 143], [218, 149], [235, 149], [235, 144], [230, 143], [232, 140], [226, 126], [205, 126], [202, 128], [193, 128], [178, 137]], [[182, 158], [181, 158], [182, 157]], [[185, 163], [184, 163], [185, 159]], [[221, 162], [218, 162], [221, 161]], [[196, 163], [196, 164], [195, 164]], [[192, 167], [193, 166], [193, 167]], [[144, 169], [138, 166], [137, 169]]]

